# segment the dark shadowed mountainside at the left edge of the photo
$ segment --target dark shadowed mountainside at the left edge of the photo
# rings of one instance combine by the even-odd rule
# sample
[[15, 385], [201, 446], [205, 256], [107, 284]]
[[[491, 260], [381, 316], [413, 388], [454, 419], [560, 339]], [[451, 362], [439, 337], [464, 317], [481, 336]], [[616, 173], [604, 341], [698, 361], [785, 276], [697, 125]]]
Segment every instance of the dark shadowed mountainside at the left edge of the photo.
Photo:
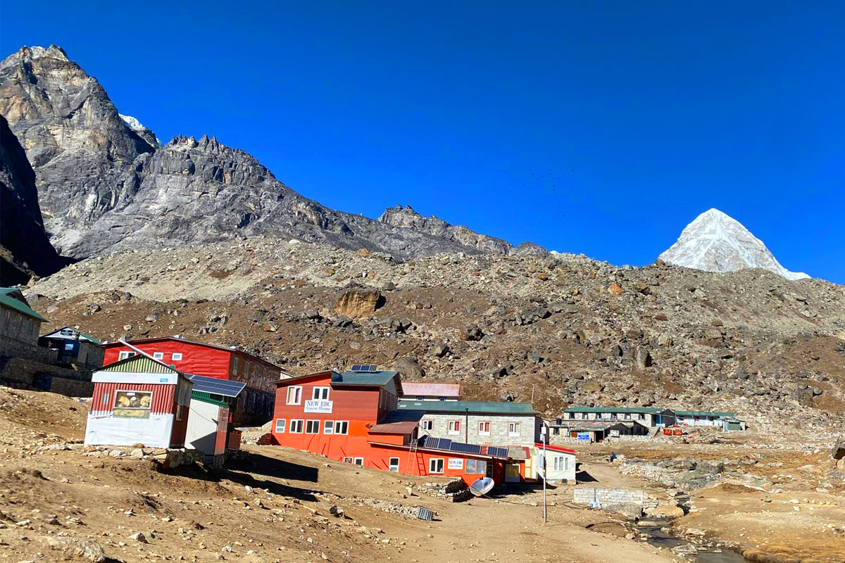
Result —
[[44, 232], [35, 172], [0, 116], [0, 285], [26, 284], [62, 266]]

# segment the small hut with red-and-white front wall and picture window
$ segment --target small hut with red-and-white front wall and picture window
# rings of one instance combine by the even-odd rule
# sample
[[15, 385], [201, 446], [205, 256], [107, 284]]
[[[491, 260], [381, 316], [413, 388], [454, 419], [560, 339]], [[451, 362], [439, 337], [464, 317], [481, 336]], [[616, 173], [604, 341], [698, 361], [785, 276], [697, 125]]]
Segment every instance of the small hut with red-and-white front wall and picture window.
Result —
[[95, 371], [85, 444], [183, 447], [194, 387], [180, 371], [146, 356]]

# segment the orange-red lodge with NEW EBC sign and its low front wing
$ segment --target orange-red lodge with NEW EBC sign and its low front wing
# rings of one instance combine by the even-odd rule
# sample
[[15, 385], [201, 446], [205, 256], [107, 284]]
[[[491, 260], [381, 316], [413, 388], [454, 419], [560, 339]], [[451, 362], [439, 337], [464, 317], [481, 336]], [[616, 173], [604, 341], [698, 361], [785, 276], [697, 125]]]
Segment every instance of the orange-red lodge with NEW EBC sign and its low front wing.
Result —
[[412, 475], [504, 479], [507, 448], [424, 436], [417, 421], [379, 421], [395, 412], [395, 371], [324, 371], [276, 383], [275, 443], [346, 463]]

